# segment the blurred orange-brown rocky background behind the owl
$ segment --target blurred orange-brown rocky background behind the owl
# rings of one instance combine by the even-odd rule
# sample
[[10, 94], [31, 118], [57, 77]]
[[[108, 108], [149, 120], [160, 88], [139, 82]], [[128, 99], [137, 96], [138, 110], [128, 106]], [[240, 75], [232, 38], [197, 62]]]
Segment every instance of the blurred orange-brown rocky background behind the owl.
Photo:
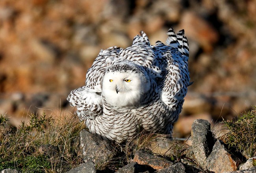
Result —
[[67, 95], [101, 49], [126, 48], [141, 30], [165, 42], [170, 27], [185, 29], [194, 81], [174, 136], [256, 104], [256, 0], [0, 0], [0, 113], [19, 125], [74, 112]]

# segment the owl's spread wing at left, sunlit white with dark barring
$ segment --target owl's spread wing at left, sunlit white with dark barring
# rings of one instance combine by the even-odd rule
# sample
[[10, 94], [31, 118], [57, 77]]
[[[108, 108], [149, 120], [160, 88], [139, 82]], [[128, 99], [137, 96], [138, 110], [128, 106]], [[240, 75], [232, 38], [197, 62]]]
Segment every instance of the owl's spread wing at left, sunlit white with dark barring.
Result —
[[120, 50], [122, 49], [118, 47], [101, 50], [93, 65], [87, 71], [85, 86], [72, 90], [69, 94], [67, 100], [71, 106], [77, 107], [77, 114], [80, 120], [94, 120], [96, 116], [102, 114], [102, 77], [106, 68], [118, 61]]

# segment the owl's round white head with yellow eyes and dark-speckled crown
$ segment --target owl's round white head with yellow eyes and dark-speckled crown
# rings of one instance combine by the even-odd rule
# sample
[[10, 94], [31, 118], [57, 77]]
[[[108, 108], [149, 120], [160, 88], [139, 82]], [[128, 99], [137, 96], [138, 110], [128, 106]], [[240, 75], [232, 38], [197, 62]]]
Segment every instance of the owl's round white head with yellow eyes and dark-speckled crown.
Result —
[[110, 66], [103, 77], [102, 97], [113, 107], [136, 107], [150, 90], [145, 70], [130, 61]]

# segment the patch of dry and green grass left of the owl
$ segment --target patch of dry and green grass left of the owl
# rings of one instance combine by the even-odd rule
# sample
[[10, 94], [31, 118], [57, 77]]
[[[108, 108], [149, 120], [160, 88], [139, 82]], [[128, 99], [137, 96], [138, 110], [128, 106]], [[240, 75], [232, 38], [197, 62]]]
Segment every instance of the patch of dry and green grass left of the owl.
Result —
[[[85, 125], [76, 117], [61, 115], [58, 119], [32, 114], [28, 124], [5, 129], [8, 119], [1, 115], [0, 170], [21, 172], [60, 172], [78, 166], [72, 143]], [[49, 152], [47, 147], [53, 151]]]

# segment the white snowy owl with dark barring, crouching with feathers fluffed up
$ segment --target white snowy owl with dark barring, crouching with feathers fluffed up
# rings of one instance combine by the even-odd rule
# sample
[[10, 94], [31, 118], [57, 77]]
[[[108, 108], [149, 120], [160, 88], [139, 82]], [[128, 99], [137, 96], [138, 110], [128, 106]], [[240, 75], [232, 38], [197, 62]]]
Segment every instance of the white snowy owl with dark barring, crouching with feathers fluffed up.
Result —
[[166, 44], [150, 45], [147, 35], [134, 37], [132, 46], [101, 50], [86, 74], [85, 86], [67, 100], [91, 133], [122, 142], [141, 127], [172, 134], [187, 86], [189, 48], [184, 30], [167, 32]]

